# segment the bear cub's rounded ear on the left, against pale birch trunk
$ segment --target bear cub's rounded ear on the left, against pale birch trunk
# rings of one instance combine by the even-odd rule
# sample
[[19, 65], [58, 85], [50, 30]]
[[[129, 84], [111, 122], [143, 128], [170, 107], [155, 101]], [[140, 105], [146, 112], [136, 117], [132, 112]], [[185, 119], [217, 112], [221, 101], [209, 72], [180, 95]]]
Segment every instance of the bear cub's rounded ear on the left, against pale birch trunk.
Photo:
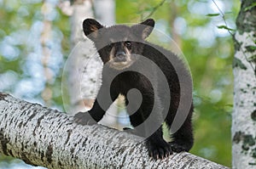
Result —
[[89, 37], [91, 40], [98, 36], [99, 30], [104, 26], [99, 22], [93, 19], [86, 19], [83, 22], [83, 30], [86, 37]]

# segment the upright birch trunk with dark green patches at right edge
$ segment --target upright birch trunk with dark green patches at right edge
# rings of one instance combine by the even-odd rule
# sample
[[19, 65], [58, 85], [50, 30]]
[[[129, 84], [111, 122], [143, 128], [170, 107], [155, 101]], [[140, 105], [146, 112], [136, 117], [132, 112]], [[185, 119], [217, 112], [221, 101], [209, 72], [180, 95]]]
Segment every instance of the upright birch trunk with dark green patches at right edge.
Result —
[[234, 169], [256, 168], [256, 4], [242, 0], [236, 19], [232, 155]]

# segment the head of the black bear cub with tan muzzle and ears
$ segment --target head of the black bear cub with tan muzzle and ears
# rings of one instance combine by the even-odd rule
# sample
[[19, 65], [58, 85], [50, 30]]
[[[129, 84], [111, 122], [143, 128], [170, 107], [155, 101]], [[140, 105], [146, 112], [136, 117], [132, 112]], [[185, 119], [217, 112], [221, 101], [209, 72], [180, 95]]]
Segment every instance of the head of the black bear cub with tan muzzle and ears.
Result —
[[96, 45], [105, 64], [115, 70], [130, 67], [143, 53], [145, 38], [154, 29], [154, 20], [148, 19], [137, 25], [113, 25], [105, 27], [93, 19], [83, 22], [83, 30]]

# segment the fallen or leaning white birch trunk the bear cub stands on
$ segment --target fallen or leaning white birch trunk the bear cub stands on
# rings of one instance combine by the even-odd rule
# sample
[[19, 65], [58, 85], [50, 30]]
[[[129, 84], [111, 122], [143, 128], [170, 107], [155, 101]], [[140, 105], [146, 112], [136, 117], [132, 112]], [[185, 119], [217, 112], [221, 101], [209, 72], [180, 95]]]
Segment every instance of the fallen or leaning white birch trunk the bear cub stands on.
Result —
[[143, 138], [0, 93], [0, 153], [48, 168], [227, 168], [189, 153], [149, 158]]

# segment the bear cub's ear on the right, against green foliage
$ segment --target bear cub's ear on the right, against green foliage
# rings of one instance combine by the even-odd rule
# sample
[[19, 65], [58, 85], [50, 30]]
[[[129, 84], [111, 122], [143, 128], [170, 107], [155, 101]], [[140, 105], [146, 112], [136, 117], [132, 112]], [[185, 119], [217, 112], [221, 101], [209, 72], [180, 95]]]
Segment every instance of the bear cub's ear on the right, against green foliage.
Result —
[[143, 39], [145, 39], [150, 35], [150, 33], [154, 29], [154, 20], [153, 19], [145, 20], [140, 24], [132, 25], [131, 28], [134, 30], [137, 36], [140, 36]]

